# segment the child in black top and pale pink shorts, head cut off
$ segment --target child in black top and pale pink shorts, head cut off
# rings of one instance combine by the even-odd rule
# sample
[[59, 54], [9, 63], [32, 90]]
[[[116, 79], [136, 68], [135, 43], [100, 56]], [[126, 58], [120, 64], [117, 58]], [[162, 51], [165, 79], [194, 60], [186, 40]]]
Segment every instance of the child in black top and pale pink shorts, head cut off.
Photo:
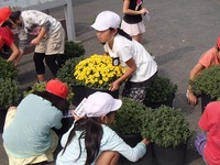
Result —
[[123, 13], [121, 29], [141, 43], [142, 34], [145, 32], [142, 15], [148, 13], [145, 8], [142, 8], [142, 0], [123, 0]]

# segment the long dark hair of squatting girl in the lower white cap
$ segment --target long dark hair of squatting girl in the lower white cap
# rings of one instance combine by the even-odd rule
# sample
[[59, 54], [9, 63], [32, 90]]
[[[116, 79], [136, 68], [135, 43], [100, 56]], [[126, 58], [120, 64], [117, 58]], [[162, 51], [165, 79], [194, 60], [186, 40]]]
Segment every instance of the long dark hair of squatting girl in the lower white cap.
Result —
[[102, 134], [103, 134], [100, 119], [99, 118], [82, 118], [82, 119], [77, 120], [75, 122], [73, 130], [70, 131], [68, 135], [67, 143], [64, 147], [63, 154], [66, 151], [66, 147], [72, 142], [73, 138], [76, 135], [76, 131], [82, 131], [78, 140], [79, 148], [80, 148], [78, 158], [81, 156], [80, 139], [85, 139], [85, 145], [86, 145], [86, 152], [87, 152], [87, 160], [86, 160], [85, 165], [90, 165], [98, 156], [100, 143], [101, 143]]

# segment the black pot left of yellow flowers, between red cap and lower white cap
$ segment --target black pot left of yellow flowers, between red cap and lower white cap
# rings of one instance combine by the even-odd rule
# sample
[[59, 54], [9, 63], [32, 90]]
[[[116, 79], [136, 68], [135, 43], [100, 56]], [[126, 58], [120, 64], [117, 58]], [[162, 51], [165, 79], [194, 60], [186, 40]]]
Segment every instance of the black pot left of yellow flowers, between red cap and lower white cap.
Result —
[[73, 105], [77, 107], [81, 100], [86, 97], [86, 87], [72, 85], [72, 90], [74, 92]]

